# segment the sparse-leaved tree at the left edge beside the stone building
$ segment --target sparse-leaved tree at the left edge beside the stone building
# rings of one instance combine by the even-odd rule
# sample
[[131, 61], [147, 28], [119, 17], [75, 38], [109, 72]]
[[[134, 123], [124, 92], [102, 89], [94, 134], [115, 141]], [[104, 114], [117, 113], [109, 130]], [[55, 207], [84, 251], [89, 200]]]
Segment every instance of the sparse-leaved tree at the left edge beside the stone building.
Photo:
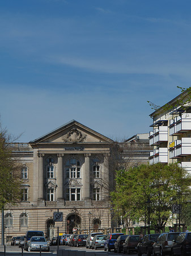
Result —
[[0, 124], [0, 207], [18, 203], [21, 199], [21, 166], [10, 150], [12, 137]]

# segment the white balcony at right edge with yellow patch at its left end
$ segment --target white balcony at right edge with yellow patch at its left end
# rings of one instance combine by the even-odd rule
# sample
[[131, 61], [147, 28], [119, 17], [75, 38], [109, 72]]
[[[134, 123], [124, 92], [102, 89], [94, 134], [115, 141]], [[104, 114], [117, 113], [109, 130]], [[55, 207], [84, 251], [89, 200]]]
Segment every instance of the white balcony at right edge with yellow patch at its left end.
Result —
[[[174, 143], [174, 144], [173, 144]], [[169, 158], [180, 158], [181, 156], [191, 155], [191, 138], [177, 139], [171, 143]]]

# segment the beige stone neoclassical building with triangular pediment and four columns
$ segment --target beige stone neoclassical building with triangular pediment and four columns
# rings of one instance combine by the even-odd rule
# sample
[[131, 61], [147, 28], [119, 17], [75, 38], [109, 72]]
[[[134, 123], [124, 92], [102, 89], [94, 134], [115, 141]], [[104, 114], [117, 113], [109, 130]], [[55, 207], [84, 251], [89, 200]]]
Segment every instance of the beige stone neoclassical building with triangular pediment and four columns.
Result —
[[[133, 145], [133, 164], [148, 161], [148, 139], [136, 135], [124, 143]], [[42, 230], [52, 238], [58, 225], [60, 233], [111, 228], [112, 144], [75, 120], [29, 143], [10, 144], [22, 163], [22, 201], [5, 209], [5, 237]], [[54, 212], [63, 213], [62, 222], [54, 222]]]

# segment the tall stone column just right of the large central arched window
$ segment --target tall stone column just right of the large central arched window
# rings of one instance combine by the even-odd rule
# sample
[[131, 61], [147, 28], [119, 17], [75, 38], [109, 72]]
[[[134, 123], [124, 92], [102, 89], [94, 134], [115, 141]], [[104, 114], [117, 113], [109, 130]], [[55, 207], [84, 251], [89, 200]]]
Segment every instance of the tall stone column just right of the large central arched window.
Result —
[[86, 205], [91, 205], [90, 199], [90, 156], [91, 154], [84, 154], [84, 180], [83, 180], [83, 192]]

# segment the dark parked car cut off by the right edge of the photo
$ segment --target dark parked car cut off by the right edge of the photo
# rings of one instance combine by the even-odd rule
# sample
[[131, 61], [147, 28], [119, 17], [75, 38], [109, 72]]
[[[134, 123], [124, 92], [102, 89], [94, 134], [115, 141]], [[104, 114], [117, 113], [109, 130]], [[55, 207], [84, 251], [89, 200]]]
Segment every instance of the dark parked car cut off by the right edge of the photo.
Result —
[[173, 240], [172, 254], [182, 256], [191, 254], [191, 232], [182, 232], [176, 240]]

